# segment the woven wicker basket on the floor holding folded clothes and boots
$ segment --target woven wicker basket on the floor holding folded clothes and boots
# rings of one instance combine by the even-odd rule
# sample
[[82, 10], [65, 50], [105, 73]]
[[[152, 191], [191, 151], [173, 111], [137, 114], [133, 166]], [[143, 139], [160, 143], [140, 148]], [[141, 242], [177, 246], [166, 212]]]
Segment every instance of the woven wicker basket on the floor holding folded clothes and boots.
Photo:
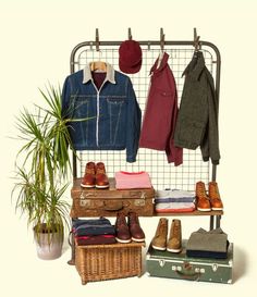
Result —
[[75, 245], [75, 265], [87, 282], [142, 275], [142, 247], [145, 244]]

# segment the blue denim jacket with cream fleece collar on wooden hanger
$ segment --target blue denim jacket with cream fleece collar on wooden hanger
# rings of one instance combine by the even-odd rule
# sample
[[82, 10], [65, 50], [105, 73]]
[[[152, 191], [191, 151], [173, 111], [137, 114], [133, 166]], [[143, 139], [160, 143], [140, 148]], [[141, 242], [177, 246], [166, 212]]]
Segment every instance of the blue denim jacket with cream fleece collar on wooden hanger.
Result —
[[110, 64], [99, 89], [89, 64], [66, 77], [62, 114], [71, 119], [69, 132], [75, 150], [126, 149], [126, 161], [136, 161], [142, 111], [130, 77]]

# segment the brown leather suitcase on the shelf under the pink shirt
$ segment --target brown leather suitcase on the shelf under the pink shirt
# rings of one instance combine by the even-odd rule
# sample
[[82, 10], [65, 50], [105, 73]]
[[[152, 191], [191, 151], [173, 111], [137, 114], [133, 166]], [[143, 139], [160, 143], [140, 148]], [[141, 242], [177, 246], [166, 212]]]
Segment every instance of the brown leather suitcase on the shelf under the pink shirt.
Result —
[[81, 187], [81, 178], [75, 178], [71, 189], [71, 218], [115, 216], [119, 211], [125, 214], [135, 211], [143, 216], [154, 214], [154, 188], [117, 189], [115, 180], [109, 181], [108, 189], [88, 189]]

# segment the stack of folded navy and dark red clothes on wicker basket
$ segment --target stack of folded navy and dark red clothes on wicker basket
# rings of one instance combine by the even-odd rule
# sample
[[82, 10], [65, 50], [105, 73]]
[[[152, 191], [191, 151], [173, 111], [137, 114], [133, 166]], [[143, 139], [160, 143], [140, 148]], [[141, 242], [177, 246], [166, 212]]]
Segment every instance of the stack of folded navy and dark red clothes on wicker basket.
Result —
[[73, 220], [72, 231], [78, 246], [115, 243], [115, 228], [106, 218]]

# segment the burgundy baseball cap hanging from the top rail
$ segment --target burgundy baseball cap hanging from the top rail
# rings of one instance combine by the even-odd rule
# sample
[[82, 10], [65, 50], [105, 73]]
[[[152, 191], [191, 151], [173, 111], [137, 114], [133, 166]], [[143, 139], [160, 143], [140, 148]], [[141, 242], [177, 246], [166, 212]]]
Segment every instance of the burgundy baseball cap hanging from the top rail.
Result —
[[137, 73], [142, 66], [142, 49], [139, 42], [125, 40], [119, 48], [119, 66], [124, 73]]

